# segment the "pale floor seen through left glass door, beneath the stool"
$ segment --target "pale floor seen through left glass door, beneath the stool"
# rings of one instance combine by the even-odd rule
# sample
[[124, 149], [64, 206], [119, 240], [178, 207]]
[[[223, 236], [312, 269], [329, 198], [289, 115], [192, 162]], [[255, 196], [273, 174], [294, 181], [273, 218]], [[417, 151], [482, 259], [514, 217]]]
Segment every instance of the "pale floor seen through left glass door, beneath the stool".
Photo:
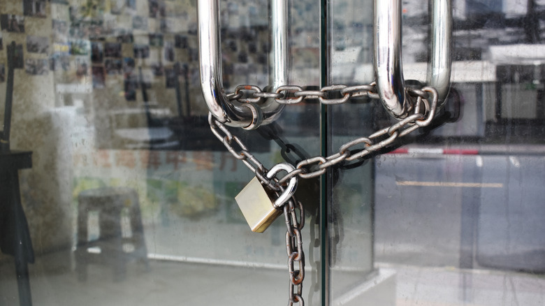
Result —
[[[15, 268], [4, 263], [0, 305], [18, 305]], [[122, 282], [114, 281], [110, 268], [89, 265], [87, 281], [79, 282], [73, 271], [37, 271], [42, 267], [39, 259], [29, 265], [34, 305], [254, 305], [248, 297], [256, 293], [267, 301], [261, 305], [286, 303], [286, 272], [281, 270], [151, 261], [150, 272], [129, 263]], [[268, 288], [272, 283], [282, 286]]]

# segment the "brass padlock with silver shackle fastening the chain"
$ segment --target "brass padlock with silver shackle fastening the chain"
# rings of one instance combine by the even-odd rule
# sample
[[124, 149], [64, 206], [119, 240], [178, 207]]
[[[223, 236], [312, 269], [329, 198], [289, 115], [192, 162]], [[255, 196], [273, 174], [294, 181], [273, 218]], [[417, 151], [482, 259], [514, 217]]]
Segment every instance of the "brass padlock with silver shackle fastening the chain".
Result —
[[[274, 177], [279, 170], [291, 172], [295, 170], [289, 163], [279, 163], [267, 173], [267, 178]], [[271, 198], [275, 197], [273, 192], [268, 193], [259, 182], [257, 177], [254, 177], [247, 185], [235, 196], [238, 207], [242, 211], [249, 227], [256, 233], [263, 233], [273, 221], [282, 214], [282, 205], [289, 201], [297, 188], [297, 177], [293, 176], [289, 180], [288, 187], [284, 192], [276, 198], [275, 201]]]

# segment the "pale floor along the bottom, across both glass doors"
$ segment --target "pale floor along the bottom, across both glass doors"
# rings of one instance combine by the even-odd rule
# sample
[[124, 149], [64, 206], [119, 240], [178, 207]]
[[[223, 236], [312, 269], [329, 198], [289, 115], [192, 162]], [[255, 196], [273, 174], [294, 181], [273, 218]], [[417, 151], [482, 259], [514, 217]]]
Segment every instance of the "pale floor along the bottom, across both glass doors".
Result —
[[[87, 281], [78, 282], [72, 268], [55, 263], [59, 258], [54, 254], [43, 256], [29, 265], [34, 305], [285, 305], [287, 299], [287, 272], [274, 267], [152, 260], [150, 272], [138, 263], [129, 263], [122, 282], [113, 281], [108, 267], [89, 265]], [[377, 263], [377, 267], [390, 273], [387, 286], [392, 288], [376, 291], [375, 298], [377, 294], [388, 295], [383, 300], [395, 301], [393, 305], [545, 304], [544, 275], [388, 263]], [[10, 258], [0, 261], [0, 305], [19, 305], [14, 270]], [[320, 305], [319, 277], [313, 272], [305, 279], [305, 301], [307, 305]], [[365, 295], [351, 303], [343, 301], [354, 291], [368, 290], [377, 284], [376, 279], [370, 281], [358, 272], [347, 272], [344, 278], [336, 274], [331, 285], [333, 305], [371, 305]], [[392, 294], [395, 298], [389, 296]]]

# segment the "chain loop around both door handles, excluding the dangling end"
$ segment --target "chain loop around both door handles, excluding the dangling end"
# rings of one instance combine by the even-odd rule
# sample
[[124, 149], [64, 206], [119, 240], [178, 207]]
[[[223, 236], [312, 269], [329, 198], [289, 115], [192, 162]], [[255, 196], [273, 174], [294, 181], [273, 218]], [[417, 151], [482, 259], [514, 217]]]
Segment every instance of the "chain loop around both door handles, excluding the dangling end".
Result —
[[[391, 126], [376, 131], [370, 136], [356, 138], [355, 140], [345, 143], [335, 154], [327, 157], [314, 156], [309, 159], [304, 159], [296, 165], [295, 170], [287, 173], [277, 182], [273, 182], [265, 177], [264, 173], [267, 173], [267, 168], [265, 168], [263, 163], [248, 151], [240, 138], [228, 131], [224, 124], [215, 119], [211, 114], [208, 115], [208, 122], [210, 124], [210, 129], [212, 129], [212, 133], [224, 143], [227, 150], [231, 152], [236, 159], [240, 159], [245, 163], [245, 165], [252, 170], [256, 177], [258, 177], [263, 184], [266, 184], [267, 187], [274, 191], [279, 191], [279, 184], [284, 184], [284, 182], [295, 175], [298, 175], [301, 178], [317, 177], [324, 174], [327, 168], [331, 166], [335, 166], [343, 161], [363, 159], [365, 156], [391, 145], [397, 138], [406, 136], [421, 126], [428, 126], [435, 116], [435, 110], [437, 108], [437, 91], [433, 87], [422, 87], [421, 89], [407, 87], [406, 90], [408, 96], [412, 98], [412, 105], [410, 107], [413, 111], [412, 115], [395, 122], [395, 124], [392, 124]], [[246, 91], [247, 93], [243, 93], [243, 91]], [[248, 93], [248, 91], [251, 93]], [[330, 92], [338, 92], [342, 94], [342, 98], [330, 99], [328, 98]], [[233, 94], [228, 96], [231, 100], [238, 100], [242, 103], [255, 103], [256, 100], [248, 99], [265, 99], [266, 97], [273, 98], [278, 103], [285, 104], [300, 103], [303, 99], [316, 99], [317, 97], [321, 103], [324, 104], [344, 103], [349, 101], [351, 97], [359, 96], [369, 96], [371, 99], [379, 99], [379, 95], [375, 91], [374, 83], [371, 85], [351, 87], [348, 87], [347, 85], [333, 85], [314, 91], [305, 91], [303, 90], [303, 87], [299, 86], [285, 85], [278, 87], [275, 93], [261, 92], [259, 87], [253, 85], [240, 85], [236, 87]], [[242, 98], [242, 96], [247, 97]], [[235, 149], [237, 146], [240, 150]]]

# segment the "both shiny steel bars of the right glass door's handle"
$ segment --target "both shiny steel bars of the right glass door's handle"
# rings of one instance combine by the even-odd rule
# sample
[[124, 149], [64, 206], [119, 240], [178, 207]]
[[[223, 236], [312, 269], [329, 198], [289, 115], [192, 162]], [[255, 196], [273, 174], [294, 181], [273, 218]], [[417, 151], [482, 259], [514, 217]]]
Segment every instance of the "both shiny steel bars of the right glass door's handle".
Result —
[[[431, 61], [428, 85], [439, 99], [449, 92], [452, 9], [450, 0], [433, 0]], [[375, 74], [384, 107], [396, 119], [407, 117], [401, 54], [401, 1], [375, 0]]]

